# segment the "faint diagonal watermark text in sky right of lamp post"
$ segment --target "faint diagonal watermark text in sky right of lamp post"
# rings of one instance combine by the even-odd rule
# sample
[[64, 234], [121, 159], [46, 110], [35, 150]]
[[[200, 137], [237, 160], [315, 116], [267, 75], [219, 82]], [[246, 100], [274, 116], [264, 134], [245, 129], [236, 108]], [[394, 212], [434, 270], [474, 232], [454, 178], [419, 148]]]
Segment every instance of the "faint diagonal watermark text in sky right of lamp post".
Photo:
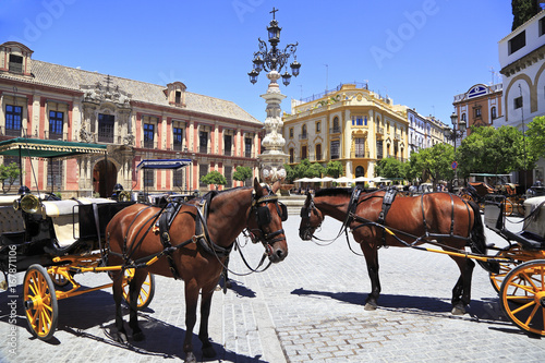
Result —
[[399, 24], [397, 29], [386, 29], [386, 43], [384, 47], [373, 46], [370, 48], [371, 55], [375, 60], [378, 69], [383, 69], [384, 61], [392, 59], [393, 56], [403, 49], [404, 45], [410, 41], [419, 31], [427, 23], [431, 16], [439, 12], [439, 7], [436, 0], [425, 0], [422, 3], [421, 10], [404, 11], [403, 17], [405, 22]]

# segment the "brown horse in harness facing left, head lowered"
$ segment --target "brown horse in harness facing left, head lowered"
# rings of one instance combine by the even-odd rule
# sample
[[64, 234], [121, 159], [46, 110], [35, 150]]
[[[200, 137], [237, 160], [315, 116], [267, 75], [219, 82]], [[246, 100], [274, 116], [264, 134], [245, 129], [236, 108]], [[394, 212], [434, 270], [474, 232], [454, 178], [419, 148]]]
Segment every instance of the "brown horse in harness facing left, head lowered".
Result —
[[[299, 235], [302, 240], [311, 240], [325, 216], [343, 221], [342, 228], [352, 231], [367, 263], [371, 293], [365, 301], [365, 310], [375, 310], [380, 294], [380, 246], [417, 247], [422, 243], [432, 242], [445, 251], [462, 252], [460, 255], [449, 255], [460, 268], [460, 278], [452, 290], [452, 314], [465, 313], [465, 305], [471, 300], [471, 276], [475, 264], [463, 256], [464, 247], [469, 245], [480, 254], [486, 252], [479, 207], [452, 194], [429, 193], [411, 197], [397, 196], [388, 210], [383, 206], [385, 195], [384, 190], [362, 193], [359, 189], [326, 189], [317, 192], [314, 197], [307, 194], [301, 209]], [[495, 263], [479, 263], [488, 270], [499, 268]]]

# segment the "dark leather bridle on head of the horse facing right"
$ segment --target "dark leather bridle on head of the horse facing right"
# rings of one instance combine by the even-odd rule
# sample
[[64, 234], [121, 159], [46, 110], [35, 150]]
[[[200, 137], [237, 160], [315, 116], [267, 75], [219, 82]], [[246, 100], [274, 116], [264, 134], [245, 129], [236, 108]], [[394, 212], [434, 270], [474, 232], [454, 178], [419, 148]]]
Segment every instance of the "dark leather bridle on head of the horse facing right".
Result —
[[[272, 192], [272, 190], [268, 185], [264, 187], [266, 187], [268, 191], [267, 195], [258, 197], [255, 195], [255, 193], [252, 193], [252, 206], [250, 209], [249, 218], [251, 216], [255, 216], [257, 222], [257, 229], [249, 229], [249, 232], [252, 242], [254, 243], [257, 243], [257, 241], [262, 242], [265, 249], [267, 250], [267, 254], [270, 255], [272, 253], [272, 244], [275, 244], [278, 241], [286, 240], [286, 237], [278, 237], [278, 235], [286, 233], [283, 231], [283, 228], [270, 233], [267, 233], [264, 230], [264, 227], [269, 225], [271, 221], [270, 209], [268, 208], [268, 204], [274, 203], [276, 205], [276, 209], [278, 215], [280, 216], [281, 221], [288, 220], [288, 208], [286, 207], [284, 204], [278, 201], [278, 196]], [[254, 231], [257, 231], [258, 234], [256, 235]]]

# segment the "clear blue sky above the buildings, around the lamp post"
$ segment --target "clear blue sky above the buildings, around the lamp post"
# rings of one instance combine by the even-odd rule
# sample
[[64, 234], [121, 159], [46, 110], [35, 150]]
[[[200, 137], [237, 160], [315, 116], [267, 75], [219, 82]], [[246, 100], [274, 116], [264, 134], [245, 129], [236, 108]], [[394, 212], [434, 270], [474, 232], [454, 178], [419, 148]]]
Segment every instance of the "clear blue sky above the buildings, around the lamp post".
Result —
[[21, 41], [46, 62], [181, 81], [264, 121], [267, 78], [252, 85], [247, 72], [272, 7], [280, 47], [299, 41], [301, 74], [281, 85], [288, 112], [290, 98], [356, 81], [450, 124], [455, 95], [501, 82], [498, 41], [511, 32], [510, 0], [0, 0], [0, 43]]

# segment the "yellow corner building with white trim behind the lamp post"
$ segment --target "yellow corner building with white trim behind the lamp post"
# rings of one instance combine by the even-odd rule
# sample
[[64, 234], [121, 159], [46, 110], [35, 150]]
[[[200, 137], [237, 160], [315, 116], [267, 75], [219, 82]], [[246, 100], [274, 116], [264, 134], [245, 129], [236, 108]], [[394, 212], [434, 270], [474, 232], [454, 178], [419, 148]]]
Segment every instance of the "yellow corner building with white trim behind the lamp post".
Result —
[[289, 164], [303, 159], [326, 166], [338, 160], [348, 178], [375, 177], [378, 160], [409, 158], [407, 107], [392, 105], [366, 85], [342, 84], [303, 101], [283, 116]]

